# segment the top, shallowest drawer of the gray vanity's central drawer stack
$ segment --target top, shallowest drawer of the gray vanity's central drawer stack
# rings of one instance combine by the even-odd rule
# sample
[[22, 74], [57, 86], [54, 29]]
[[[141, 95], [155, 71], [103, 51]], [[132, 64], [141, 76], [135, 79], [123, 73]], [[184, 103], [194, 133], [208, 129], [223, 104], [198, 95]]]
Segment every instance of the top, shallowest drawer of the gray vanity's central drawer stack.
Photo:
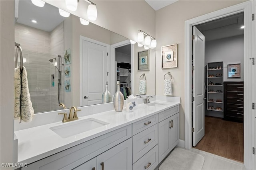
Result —
[[144, 131], [145, 129], [155, 125], [157, 122], [158, 116], [156, 114], [145, 119], [142, 119], [140, 121], [137, 121], [135, 123], [132, 123], [132, 135], [136, 135], [137, 133]]

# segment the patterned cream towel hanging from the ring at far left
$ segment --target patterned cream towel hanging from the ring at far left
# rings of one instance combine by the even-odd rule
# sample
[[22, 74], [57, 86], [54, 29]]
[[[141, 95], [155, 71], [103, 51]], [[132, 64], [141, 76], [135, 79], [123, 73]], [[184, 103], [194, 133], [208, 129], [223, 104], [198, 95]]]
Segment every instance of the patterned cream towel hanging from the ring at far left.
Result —
[[[22, 76], [20, 74], [20, 66], [15, 68], [15, 109], [14, 117], [20, 117], [21, 121], [30, 122], [34, 115], [34, 109], [30, 100], [28, 90], [28, 78], [26, 68], [23, 66]], [[20, 104], [19, 104], [20, 103]]]

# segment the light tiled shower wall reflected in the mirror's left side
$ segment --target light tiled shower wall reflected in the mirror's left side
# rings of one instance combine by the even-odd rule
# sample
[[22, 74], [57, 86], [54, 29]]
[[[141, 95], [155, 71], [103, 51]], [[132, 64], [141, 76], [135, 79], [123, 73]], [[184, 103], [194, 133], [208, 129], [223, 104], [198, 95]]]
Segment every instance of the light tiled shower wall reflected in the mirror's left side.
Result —
[[[26, 58], [24, 66], [28, 73], [28, 88], [35, 113], [59, 108], [56, 107], [58, 105], [58, 95], [56, 95], [58, 82], [55, 82], [56, 85], [54, 83], [54, 87], [51, 83], [51, 72], [57, 69], [49, 62], [51, 58], [58, 58], [50, 55], [52, 52], [51, 37], [54, 37], [55, 33], [52, 34], [51, 36], [50, 32], [20, 23], [15, 24], [15, 42], [20, 43], [23, 57]], [[58, 72], [53, 74], [58, 77]]]

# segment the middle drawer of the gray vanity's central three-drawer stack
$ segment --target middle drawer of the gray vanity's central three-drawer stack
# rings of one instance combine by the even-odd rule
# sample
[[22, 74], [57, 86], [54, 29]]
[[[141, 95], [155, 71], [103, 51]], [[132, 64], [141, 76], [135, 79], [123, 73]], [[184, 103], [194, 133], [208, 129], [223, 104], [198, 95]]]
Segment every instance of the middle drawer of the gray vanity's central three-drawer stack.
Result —
[[138, 133], [132, 137], [132, 163], [158, 144], [158, 125]]

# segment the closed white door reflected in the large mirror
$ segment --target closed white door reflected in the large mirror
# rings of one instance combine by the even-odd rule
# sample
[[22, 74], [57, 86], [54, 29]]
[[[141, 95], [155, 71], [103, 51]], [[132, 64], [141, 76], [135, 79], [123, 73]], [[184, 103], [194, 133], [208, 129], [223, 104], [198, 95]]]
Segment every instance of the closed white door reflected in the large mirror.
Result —
[[83, 106], [102, 103], [102, 93], [109, 81], [109, 47], [82, 41]]

